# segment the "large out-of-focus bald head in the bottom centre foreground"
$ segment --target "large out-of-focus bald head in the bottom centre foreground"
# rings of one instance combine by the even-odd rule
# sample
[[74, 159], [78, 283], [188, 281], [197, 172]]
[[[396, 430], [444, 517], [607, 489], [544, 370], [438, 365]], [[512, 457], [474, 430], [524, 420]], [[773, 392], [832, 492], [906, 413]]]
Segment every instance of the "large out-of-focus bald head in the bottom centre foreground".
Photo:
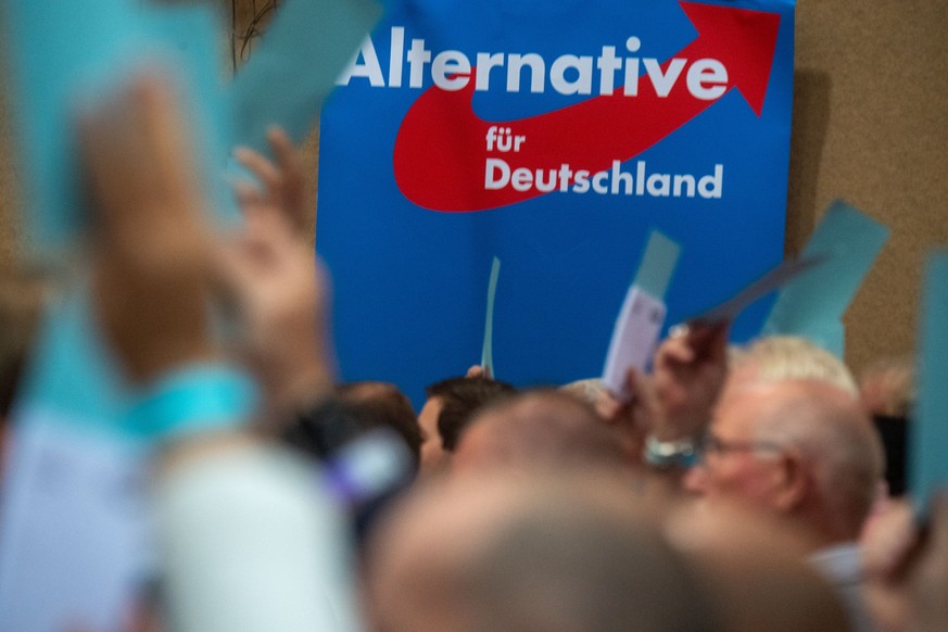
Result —
[[628, 494], [557, 477], [422, 491], [377, 532], [368, 583], [378, 627], [716, 630], [703, 581]]

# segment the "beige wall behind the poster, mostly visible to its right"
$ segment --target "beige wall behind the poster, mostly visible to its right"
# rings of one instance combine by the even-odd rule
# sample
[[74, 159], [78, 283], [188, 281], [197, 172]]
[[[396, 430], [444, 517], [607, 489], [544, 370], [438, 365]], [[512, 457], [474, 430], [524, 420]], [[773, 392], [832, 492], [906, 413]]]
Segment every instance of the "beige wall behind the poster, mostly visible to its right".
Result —
[[[249, 20], [250, 1], [237, 4], [240, 27]], [[257, 0], [257, 8], [263, 4]], [[799, 251], [835, 198], [893, 229], [846, 316], [847, 359], [857, 370], [873, 357], [913, 347], [924, 253], [948, 245], [946, 34], [946, 0], [797, 4], [786, 250]], [[20, 207], [11, 131], [0, 109], [3, 265], [12, 261]], [[314, 130], [304, 146], [312, 208], [317, 153]]]

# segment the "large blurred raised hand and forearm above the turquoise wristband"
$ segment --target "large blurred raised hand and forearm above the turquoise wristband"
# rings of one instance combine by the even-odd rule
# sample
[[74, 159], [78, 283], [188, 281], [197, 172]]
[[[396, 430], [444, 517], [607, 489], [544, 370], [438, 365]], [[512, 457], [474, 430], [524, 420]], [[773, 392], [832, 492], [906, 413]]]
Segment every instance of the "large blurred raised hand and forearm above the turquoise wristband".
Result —
[[214, 355], [212, 239], [186, 121], [169, 83], [143, 73], [79, 122], [96, 212], [96, 308], [134, 380]]

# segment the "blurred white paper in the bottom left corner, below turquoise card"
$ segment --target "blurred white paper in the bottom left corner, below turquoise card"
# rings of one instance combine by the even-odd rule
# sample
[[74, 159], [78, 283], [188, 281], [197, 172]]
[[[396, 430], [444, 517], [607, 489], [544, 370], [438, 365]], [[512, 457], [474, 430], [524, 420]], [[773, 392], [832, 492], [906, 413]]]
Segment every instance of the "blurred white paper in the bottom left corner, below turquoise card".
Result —
[[0, 505], [0, 631], [119, 630], [150, 571], [140, 448], [35, 413]]

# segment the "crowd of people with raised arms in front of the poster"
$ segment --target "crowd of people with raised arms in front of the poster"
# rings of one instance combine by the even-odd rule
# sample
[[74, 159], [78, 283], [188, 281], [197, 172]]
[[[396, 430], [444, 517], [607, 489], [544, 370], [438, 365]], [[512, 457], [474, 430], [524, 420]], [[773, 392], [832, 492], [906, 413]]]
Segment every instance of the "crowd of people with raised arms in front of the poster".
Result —
[[[78, 127], [96, 323], [169, 429], [128, 630], [948, 629], [948, 501], [905, 495], [911, 358], [857, 382], [807, 340], [732, 346], [726, 323], [690, 323], [625, 399], [459, 358], [416, 412], [392, 383], [337, 379], [281, 130], [271, 157], [235, 152], [254, 178], [222, 235], [160, 75]], [[55, 300], [43, 279], [0, 288], [4, 418]]]

